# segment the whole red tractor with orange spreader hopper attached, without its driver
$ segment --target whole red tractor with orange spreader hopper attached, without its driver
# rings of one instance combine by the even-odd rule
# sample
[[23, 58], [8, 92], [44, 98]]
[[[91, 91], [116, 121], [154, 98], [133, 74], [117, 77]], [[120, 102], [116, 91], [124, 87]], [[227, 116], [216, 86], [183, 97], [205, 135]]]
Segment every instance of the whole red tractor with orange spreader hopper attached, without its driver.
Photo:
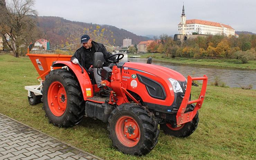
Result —
[[[32, 44], [31, 44], [32, 45]], [[25, 86], [29, 104], [43, 102], [49, 122], [71, 127], [91, 117], [108, 123], [107, 130], [117, 150], [131, 155], [149, 153], [158, 141], [160, 130], [174, 137], [188, 137], [198, 126], [207, 76], [186, 79], [180, 73], [147, 63], [120, 61], [124, 55], [113, 54], [103, 67], [103, 54], [95, 53], [91, 69], [70, 62], [68, 55], [30, 54], [39, 73], [40, 85]], [[112, 58], [115, 57], [115, 58]], [[102, 77], [105, 94], [95, 84], [90, 70]], [[199, 98], [191, 100], [192, 81], [202, 80]]]

